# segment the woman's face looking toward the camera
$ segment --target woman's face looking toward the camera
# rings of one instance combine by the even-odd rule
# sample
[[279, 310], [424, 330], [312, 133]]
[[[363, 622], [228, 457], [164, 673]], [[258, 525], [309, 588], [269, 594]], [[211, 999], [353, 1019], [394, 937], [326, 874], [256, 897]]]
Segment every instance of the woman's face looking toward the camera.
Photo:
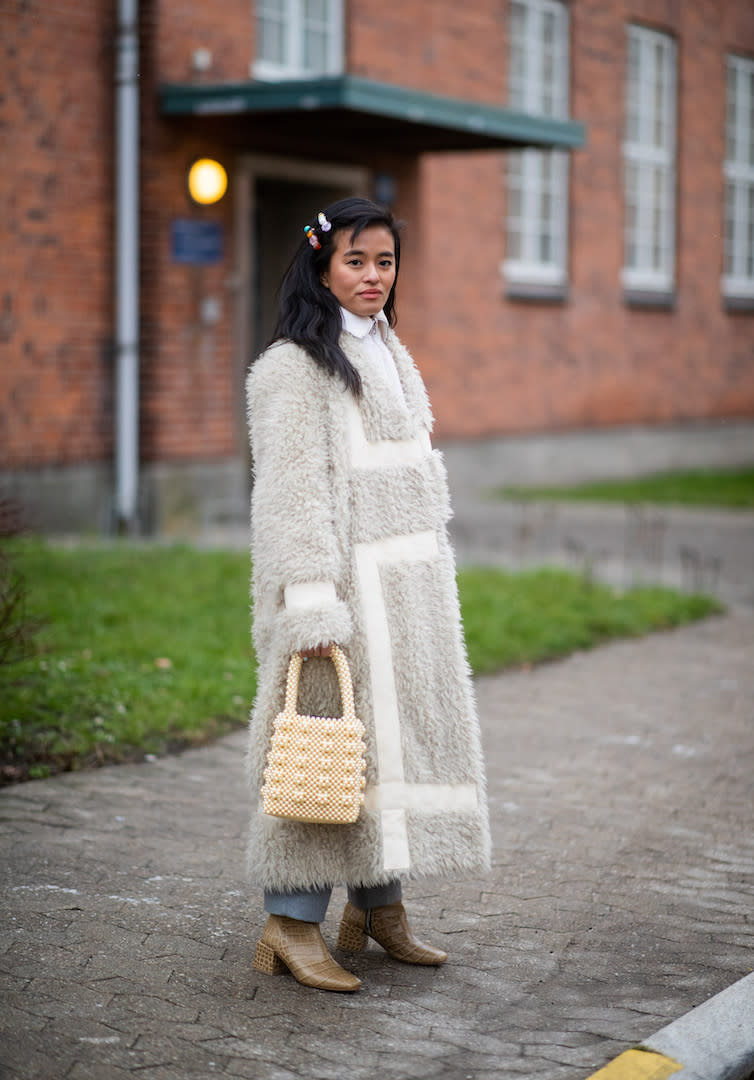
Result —
[[376, 315], [395, 281], [395, 245], [390, 229], [371, 225], [353, 241], [347, 229], [340, 229], [334, 241], [322, 284], [347, 311]]

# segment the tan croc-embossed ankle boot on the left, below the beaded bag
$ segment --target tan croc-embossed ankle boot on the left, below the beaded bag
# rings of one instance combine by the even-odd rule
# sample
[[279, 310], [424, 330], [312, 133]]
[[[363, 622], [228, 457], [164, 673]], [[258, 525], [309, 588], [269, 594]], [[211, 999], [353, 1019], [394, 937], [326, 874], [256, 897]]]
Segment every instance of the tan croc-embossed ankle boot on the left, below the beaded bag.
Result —
[[320, 990], [358, 990], [361, 982], [327, 951], [319, 922], [270, 915], [257, 942], [254, 967], [266, 975], [286, 970], [304, 986]]

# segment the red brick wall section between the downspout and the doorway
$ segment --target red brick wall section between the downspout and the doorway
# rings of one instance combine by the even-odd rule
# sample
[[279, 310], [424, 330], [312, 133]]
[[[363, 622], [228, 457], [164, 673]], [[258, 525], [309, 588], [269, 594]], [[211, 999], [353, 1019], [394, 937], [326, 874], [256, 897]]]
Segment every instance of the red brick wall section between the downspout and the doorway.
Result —
[[[252, 5], [230, 2], [223, 18], [213, 5], [152, 0], [143, 3], [142, 58], [145, 103], [160, 82], [192, 81], [194, 49], [210, 49], [211, 81], [248, 78]], [[196, 75], [193, 76], [196, 78]], [[157, 106], [143, 108], [142, 163], [142, 456], [145, 460], [206, 461], [235, 450], [233, 383], [234, 156], [212, 130], [185, 129], [162, 120]], [[186, 177], [199, 157], [227, 166], [231, 186], [215, 206], [196, 206]], [[210, 267], [186, 266], [171, 255], [171, 222], [215, 221], [225, 231], [225, 256]], [[214, 326], [202, 325], [200, 306], [220, 306]]]

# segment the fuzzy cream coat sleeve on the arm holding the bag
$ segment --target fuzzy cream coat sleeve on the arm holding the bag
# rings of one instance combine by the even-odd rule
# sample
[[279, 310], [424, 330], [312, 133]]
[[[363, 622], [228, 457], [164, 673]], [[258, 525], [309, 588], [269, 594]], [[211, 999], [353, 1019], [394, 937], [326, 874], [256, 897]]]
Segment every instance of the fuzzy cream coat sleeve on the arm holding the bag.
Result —
[[[329, 377], [293, 346], [268, 350], [246, 382], [254, 463], [255, 638], [285, 652], [351, 636], [332, 485]], [[265, 623], [257, 626], [257, 622]]]

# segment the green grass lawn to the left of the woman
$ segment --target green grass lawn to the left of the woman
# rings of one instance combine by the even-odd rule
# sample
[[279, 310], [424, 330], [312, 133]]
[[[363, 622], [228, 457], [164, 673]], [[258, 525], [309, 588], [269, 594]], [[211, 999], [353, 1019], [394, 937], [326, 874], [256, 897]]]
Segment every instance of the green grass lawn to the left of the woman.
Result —
[[[24, 544], [46, 624], [0, 678], [0, 765], [31, 775], [198, 744], [254, 694], [248, 558], [188, 548]], [[10, 684], [10, 685], [9, 685]]]

